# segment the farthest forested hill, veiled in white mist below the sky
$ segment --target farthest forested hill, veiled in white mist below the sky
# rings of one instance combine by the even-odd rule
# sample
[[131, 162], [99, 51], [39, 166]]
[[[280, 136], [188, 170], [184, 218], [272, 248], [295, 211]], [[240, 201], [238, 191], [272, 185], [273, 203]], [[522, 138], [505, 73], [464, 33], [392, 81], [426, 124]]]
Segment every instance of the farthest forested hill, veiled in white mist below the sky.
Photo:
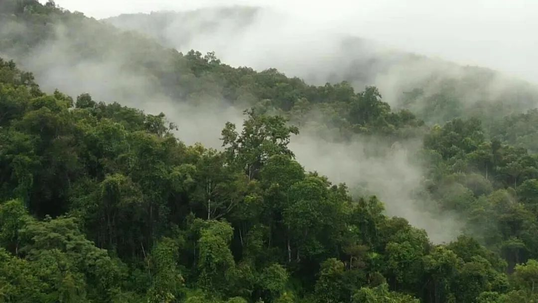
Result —
[[[491, 69], [459, 66], [344, 34], [302, 30], [309, 37], [298, 38], [289, 29], [301, 27], [301, 20], [268, 8], [140, 13], [104, 21], [180, 51], [215, 51], [225, 62], [276, 67], [308, 83], [348, 81], [358, 90], [375, 85], [393, 107], [410, 109], [428, 123], [475, 115], [489, 121], [538, 104], [538, 87]], [[261, 49], [253, 51], [252, 45]]]

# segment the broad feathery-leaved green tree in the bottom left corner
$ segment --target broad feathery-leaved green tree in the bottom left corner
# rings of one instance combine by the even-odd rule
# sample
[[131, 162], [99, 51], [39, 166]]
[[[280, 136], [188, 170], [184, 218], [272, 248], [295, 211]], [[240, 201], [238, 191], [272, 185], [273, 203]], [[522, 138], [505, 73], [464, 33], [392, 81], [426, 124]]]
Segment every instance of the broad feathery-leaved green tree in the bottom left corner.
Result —
[[[3, 204], [2, 213], [12, 211], [13, 206], [16, 206], [16, 202]], [[2, 230], [9, 230], [9, 226], [16, 227], [9, 221], [6, 223], [8, 224], [2, 226]], [[20, 297], [20, 301], [33, 298], [37, 302], [104, 302], [111, 298], [114, 289], [118, 287], [116, 283], [120, 270], [116, 263], [107, 251], [96, 248], [84, 237], [72, 218], [37, 221], [28, 216], [15, 236], [21, 259], [0, 253], [0, 264], [16, 266], [13, 269], [3, 267], [2, 276], [5, 274], [5, 277], [10, 277], [9, 284], [19, 279], [31, 281], [35, 294], [26, 293], [27, 297]], [[15, 269], [25, 277], [12, 276], [11, 271]], [[11, 297], [13, 299], [23, 295], [11, 292], [17, 289], [18, 287], [13, 290], [6, 288], [11, 293], [8, 298], [11, 295], [15, 296]], [[16, 292], [24, 289], [19, 288]]]

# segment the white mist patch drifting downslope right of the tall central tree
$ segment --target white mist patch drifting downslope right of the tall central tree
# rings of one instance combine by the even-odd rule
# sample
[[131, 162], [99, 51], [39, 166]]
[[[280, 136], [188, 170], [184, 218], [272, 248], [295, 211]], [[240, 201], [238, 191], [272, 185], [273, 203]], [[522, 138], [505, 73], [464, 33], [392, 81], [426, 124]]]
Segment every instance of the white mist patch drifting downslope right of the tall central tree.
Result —
[[388, 216], [404, 217], [426, 230], [432, 242], [455, 239], [463, 227], [458, 217], [447, 212], [437, 214], [434, 201], [416, 197], [424, 190], [423, 172], [410, 157], [420, 145], [395, 144], [383, 156], [370, 156], [365, 149], [372, 150], [373, 144], [379, 143], [360, 137], [349, 143], [334, 143], [307, 133], [293, 138], [290, 147], [307, 170], [327, 175], [334, 184], [345, 183], [355, 198], [378, 196]]

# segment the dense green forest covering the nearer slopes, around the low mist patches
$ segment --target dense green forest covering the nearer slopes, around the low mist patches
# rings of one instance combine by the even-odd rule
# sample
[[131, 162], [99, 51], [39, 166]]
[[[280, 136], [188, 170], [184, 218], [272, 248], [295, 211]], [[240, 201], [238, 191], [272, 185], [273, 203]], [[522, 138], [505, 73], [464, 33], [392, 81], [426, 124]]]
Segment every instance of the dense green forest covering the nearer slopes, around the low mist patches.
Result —
[[[469, 110], [447, 80], [391, 107], [375, 86], [232, 67], [51, 1], [2, 1], [0, 26], [0, 302], [538, 301], [534, 88]], [[72, 51], [53, 58], [64, 67], [121, 52], [122, 73], [147, 75], [152, 91], [241, 108], [243, 121], [223, 123], [214, 149], [183, 142], [166, 112], [114, 100], [147, 87], [112, 100], [47, 91], [25, 68], [58, 35]], [[462, 232], [436, 243], [387, 215], [398, 201], [307, 170], [290, 147], [303, 130], [377, 138], [378, 153], [419, 140], [414, 195]]]

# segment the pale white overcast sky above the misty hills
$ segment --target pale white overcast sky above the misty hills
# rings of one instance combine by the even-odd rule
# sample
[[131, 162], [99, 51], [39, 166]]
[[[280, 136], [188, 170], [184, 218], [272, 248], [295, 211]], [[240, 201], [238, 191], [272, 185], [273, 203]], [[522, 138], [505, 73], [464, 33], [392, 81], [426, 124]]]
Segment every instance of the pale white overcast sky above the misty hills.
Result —
[[376, 39], [459, 64], [491, 67], [538, 83], [538, 0], [56, 0], [56, 4], [95, 18], [214, 5], [266, 5], [308, 18], [328, 31]]

